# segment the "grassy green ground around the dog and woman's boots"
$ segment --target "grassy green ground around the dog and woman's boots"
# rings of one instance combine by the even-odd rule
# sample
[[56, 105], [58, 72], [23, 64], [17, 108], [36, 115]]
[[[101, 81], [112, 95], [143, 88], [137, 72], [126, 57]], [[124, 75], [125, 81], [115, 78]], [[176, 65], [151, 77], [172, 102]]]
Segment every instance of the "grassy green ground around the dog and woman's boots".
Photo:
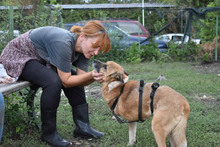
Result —
[[[160, 85], [168, 85], [180, 92], [190, 104], [191, 113], [186, 129], [188, 146], [217, 147], [220, 146], [220, 76], [218, 75], [220, 73], [208, 72], [207, 68], [198, 70], [196, 68], [198, 66], [195, 66], [195, 64], [141, 63], [122, 64], [122, 66], [130, 74], [130, 80], [143, 79], [145, 82], [154, 82], [160, 74], [163, 74], [167, 80], [161, 81]], [[100, 84], [94, 83], [87, 87], [91, 125], [93, 128], [105, 133], [100, 140], [73, 138], [74, 124], [71, 108], [66, 98], [63, 97], [61, 100], [58, 109], [58, 132], [63, 138], [73, 142], [72, 146], [124, 147], [128, 143], [128, 125], [119, 124], [116, 120], [111, 119], [112, 114], [101, 97], [100, 86]], [[39, 97], [37, 99], [36, 105], [39, 105]], [[18, 133], [15, 133], [8, 124], [9, 122], [5, 120], [0, 146], [48, 146], [40, 141], [40, 132], [37, 128], [26, 126], [29, 129], [17, 130]], [[138, 123], [137, 127], [137, 143], [134, 147], [146, 146], [157, 146], [151, 131], [151, 119], [146, 120], [144, 123]], [[168, 141], [167, 146], [170, 146]]]

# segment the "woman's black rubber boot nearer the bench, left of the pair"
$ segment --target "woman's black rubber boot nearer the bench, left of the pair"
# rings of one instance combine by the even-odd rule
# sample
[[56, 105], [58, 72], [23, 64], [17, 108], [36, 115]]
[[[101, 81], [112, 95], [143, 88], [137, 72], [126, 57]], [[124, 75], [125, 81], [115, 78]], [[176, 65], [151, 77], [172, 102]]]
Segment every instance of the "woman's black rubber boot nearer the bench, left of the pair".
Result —
[[41, 111], [41, 140], [55, 147], [67, 147], [70, 143], [59, 136], [56, 129], [57, 111]]

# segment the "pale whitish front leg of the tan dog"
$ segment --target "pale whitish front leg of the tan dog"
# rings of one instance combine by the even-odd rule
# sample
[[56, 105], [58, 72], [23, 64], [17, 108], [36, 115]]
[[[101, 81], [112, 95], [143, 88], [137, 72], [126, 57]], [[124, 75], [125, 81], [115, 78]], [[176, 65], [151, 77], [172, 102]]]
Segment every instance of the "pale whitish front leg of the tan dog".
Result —
[[136, 129], [137, 129], [137, 122], [129, 123], [129, 143], [128, 143], [128, 146], [133, 145], [136, 142]]

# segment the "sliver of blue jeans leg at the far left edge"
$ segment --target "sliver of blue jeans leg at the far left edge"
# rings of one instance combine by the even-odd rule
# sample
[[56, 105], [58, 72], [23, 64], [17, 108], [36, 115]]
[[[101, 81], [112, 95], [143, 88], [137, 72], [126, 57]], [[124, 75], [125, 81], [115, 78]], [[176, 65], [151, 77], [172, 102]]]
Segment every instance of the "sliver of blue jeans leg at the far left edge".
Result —
[[2, 140], [2, 132], [4, 127], [4, 116], [5, 116], [5, 102], [4, 102], [4, 97], [0, 92], [0, 144]]

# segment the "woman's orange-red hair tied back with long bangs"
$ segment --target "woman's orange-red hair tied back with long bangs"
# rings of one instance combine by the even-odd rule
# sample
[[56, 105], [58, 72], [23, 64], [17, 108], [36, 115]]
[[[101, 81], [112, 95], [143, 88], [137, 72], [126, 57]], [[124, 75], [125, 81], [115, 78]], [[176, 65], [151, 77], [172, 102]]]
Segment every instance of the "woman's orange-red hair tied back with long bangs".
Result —
[[73, 26], [70, 31], [78, 35], [83, 32], [87, 37], [99, 36], [98, 40], [92, 45], [92, 47], [100, 47], [99, 51], [102, 51], [104, 53], [109, 52], [109, 50], [111, 49], [111, 41], [108, 36], [108, 32], [98, 20], [91, 20], [87, 22], [84, 27]]

